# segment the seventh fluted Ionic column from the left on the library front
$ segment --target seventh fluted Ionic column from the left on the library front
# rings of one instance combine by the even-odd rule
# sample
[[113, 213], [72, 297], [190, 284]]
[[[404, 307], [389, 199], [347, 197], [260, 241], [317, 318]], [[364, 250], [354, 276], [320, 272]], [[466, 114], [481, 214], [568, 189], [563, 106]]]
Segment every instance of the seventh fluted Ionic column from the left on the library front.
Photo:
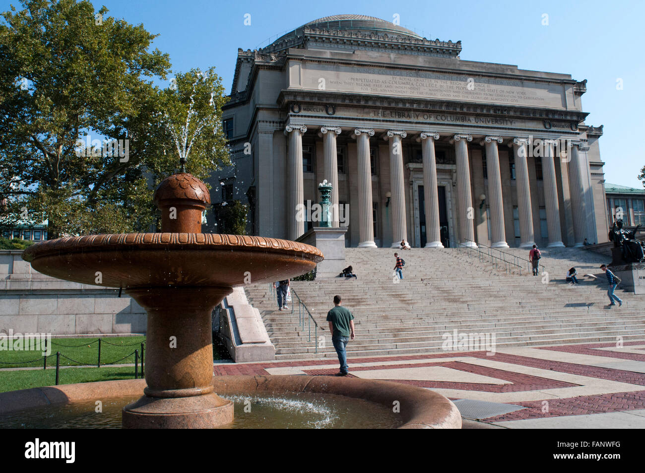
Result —
[[488, 203], [490, 205], [491, 248], [508, 248], [504, 229], [504, 204], [502, 203], [502, 176], [499, 172], [497, 143], [501, 136], [487, 136], [486, 169], [488, 170]]

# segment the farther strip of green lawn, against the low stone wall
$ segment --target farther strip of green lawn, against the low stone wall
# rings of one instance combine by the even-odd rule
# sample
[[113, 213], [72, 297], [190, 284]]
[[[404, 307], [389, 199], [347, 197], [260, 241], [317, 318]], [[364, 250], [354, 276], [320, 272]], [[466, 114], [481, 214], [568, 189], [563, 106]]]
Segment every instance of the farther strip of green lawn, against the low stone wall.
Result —
[[[141, 343], [144, 341], [146, 341], [145, 336], [101, 337], [101, 365], [114, 363], [126, 356], [119, 363], [134, 363], [134, 350], [139, 350], [139, 357], [141, 357]], [[61, 366], [96, 365], [99, 357], [98, 337], [52, 338], [51, 354], [47, 357], [48, 367], [56, 366], [56, 352], [61, 352]], [[79, 363], [70, 361], [63, 355]], [[26, 361], [30, 363], [25, 363]], [[43, 354], [40, 350], [0, 350], [0, 368], [42, 368], [43, 362]]]

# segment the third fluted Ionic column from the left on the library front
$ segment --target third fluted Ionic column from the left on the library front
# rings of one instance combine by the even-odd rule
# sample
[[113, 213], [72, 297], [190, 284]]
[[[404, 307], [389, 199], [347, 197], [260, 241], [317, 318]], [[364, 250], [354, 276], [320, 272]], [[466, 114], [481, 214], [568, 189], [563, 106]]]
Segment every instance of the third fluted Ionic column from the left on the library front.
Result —
[[376, 248], [372, 218], [372, 168], [370, 167], [370, 136], [374, 130], [356, 128], [359, 184], [359, 248]]

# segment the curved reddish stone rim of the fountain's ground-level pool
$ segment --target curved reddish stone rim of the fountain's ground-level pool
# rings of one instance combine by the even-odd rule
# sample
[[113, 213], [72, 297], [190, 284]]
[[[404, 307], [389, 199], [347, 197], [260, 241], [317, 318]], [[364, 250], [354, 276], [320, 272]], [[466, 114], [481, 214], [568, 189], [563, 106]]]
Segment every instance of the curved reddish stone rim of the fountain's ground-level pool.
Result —
[[[127, 379], [3, 392], [0, 414], [47, 405], [136, 397], [143, 394], [145, 386], [144, 379]], [[461, 414], [448, 398], [389, 381], [333, 376], [215, 376], [213, 387], [223, 395], [337, 394], [372, 401], [387, 409], [398, 401], [402, 421], [399, 428], [461, 428]]]

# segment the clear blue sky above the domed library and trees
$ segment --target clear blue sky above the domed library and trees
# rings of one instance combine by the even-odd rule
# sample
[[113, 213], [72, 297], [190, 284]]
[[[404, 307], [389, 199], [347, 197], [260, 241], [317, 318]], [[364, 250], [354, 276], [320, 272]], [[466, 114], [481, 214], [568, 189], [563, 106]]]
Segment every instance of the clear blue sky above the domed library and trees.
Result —
[[[642, 187], [645, 165], [645, 2], [642, 1], [199, 1], [101, 0], [110, 15], [160, 34], [175, 71], [215, 66], [229, 90], [237, 48], [254, 49], [313, 19], [362, 14], [392, 21], [429, 39], [462, 41], [461, 59], [588, 79], [588, 125], [604, 125], [600, 156], [609, 183]], [[1, 10], [19, 2], [0, 1]], [[244, 25], [250, 14], [251, 25]], [[548, 26], [542, 15], [548, 14]], [[622, 90], [617, 90], [622, 79]]]

